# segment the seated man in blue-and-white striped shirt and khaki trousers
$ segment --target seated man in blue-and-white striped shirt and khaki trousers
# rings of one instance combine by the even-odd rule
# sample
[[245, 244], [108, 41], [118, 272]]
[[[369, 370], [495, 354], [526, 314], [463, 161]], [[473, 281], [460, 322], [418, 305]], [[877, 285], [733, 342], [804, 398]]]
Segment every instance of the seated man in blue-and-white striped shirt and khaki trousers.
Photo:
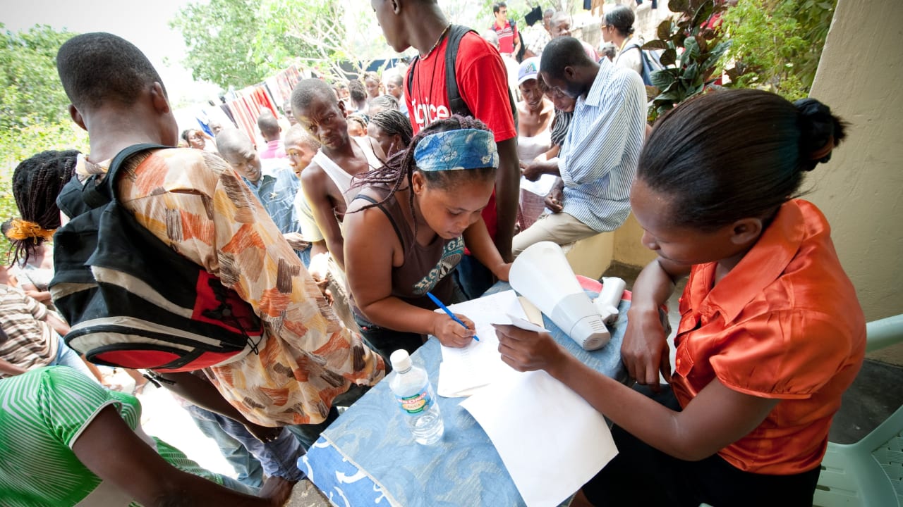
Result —
[[576, 98], [577, 105], [559, 157], [523, 171], [527, 180], [558, 180], [545, 198], [552, 214], [514, 237], [516, 256], [540, 241], [568, 244], [621, 226], [646, 133], [642, 78], [608, 59], [591, 60], [573, 37], [545, 46], [540, 76], [553, 96]]

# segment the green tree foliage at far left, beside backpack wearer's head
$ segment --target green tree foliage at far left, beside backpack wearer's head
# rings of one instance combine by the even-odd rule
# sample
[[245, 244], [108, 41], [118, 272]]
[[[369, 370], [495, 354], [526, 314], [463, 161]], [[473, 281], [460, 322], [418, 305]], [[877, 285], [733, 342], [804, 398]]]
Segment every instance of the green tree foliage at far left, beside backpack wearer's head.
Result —
[[0, 130], [69, 118], [56, 53], [73, 35], [46, 25], [13, 33], [0, 23]]

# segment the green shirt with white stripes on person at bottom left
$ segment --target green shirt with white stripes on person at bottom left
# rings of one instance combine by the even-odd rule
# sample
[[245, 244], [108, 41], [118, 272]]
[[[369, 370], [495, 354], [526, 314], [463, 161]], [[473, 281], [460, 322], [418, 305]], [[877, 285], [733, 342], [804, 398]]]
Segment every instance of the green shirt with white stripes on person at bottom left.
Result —
[[[71, 447], [107, 405], [129, 428], [138, 427], [141, 403], [134, 396], [107, 391], [68, 366], [0, 380], [0, 504], [70, 506], [94, 491], [100, 478]], [[154, 443], [172, 466], [222, 484], [178, 449], [156, 438]]]

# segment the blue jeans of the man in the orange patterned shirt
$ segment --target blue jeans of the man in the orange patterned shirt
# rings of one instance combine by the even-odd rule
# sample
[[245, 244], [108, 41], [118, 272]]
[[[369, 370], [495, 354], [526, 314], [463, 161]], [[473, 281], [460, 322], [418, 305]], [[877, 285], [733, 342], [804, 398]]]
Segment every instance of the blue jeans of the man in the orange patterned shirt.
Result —
[[[221, 416], [209, 410], [201, 409], [195, 405], [191, 405], [188, 408], [188, 411], [195, 421], [209, 422], [219, 426], [219, 429], [225, 433], [226, 436], [235, 440], [239, 446], [244, 449], [245, 454], [250, 452], [251, 456], [248, 456], [248, 458], [257, 462], [257, 470], [254, 469], [255, 464], [252, 463], [250, 469], [247, 470], [247, 476], [252, 477], [254, 482], [258, 484], [261, 482], [261, 477], [259, 475], [260, 466], [263, 466], [263, 473], [269, 477], [282, 477], [286, 481], [300, 481], [303, 479], [304, 474], [298, 469], [297, 462], [298, 457], [304, 454], [304, 448], [301, 446], [301, 442], [287, 429], [282, 430], [279, 438], [276, 438], [272, 442], [263, 443], [254, 435], [251, 435], [245, 428], [245, 425], [236, 420], [229, 419], [228, 417]], [[203, 429], [201, 430], [203, 431]], [[222, 439], [218, 437], [213, 438], [217, 440], [217, 444], [219, 445]], [[228, 440], [224, 440], [223, 443], [227, 445], [231, 444]], [[223, 447], [220, 446], [220, 449], [223, 450]], [[229, 459], [229, 456], [227, 455], [226, 450], [228, 450], [232, 456], [241, 456], [240, 451], [236, 452], [233, 450], [233, 447], [230, 446], [223, 452], [223, 456], [226, 456], [227, 459]], [[229, 461], [231, 462], [231, 460]], [[235, 462], [232, 463], [233, 466], [235, 466]], [[252, 484], [251, 481], [242, 481], [241, 471], [238, 470], [237, 466], [235, 467], [236, 472], [239, 474], [239, 482], [255, 485]]]

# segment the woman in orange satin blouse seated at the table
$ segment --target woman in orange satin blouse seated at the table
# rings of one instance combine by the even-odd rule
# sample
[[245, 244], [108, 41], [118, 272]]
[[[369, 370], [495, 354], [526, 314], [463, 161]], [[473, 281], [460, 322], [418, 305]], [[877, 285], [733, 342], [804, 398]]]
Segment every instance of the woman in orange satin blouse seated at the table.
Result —
[[[614, 422], [619, 456], [583, 486], [590, 502], [812, 505], [865, 319], [824, 215], [796, 196], [843, 137], [817, 100], [751, 89], [694, 98], [656, 125], [630, 203], [658, 258], [634, 283], [621, 346], [656, 389], [500, 328], [507, 364], [545, 370]], [[686, 275], [672, 373], [658, 308]]]

